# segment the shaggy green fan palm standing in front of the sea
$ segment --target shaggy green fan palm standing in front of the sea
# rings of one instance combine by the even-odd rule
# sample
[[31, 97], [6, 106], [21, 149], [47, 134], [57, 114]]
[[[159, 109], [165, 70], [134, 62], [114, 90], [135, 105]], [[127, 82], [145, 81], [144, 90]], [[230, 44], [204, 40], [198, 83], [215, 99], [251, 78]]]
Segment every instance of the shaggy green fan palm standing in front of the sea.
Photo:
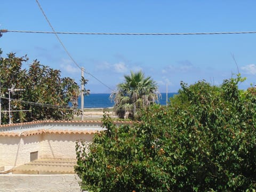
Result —
[[119, 118], [137, 117], [137, 108], [149, 106], [158, 101], [158, 86], [151, 77], [146, 77], [139, 71], [124, 76], [125, 81], [117, 85], [117, 90], [111, 93], [110, 99], [114, 101], [114, 110]]

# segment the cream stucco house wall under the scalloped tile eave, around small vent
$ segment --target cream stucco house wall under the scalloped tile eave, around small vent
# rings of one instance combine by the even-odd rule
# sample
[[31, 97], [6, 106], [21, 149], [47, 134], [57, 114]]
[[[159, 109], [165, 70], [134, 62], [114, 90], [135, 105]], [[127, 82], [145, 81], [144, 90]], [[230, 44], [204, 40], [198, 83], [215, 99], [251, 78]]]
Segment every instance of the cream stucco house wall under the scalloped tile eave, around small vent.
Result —
[[91, 141], [93, 134], [47, 133], [27, 137], [0, 136], [0, 166], [19, 166], [30, 162], [30, 153], [38, 158], [76, 158], [76, 140]]

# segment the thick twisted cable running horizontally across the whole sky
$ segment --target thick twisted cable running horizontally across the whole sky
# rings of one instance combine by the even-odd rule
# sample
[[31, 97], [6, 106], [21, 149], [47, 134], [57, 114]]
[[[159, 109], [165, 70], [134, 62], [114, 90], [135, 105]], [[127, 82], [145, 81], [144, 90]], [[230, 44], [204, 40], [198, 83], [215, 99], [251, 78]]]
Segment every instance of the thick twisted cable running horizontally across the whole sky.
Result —
[[[37, 1], [37, 0], [36, 0]], [[28, 31], [2, 29], [0, 33], [38, 33], [38, 34], [68, 34], [68, 35], [227, 35], [227, 34], [256, 34], [256, 31], [223, 31], [198, 33], [91, 33], [91, 32], [59, 32], [59, 31]]]

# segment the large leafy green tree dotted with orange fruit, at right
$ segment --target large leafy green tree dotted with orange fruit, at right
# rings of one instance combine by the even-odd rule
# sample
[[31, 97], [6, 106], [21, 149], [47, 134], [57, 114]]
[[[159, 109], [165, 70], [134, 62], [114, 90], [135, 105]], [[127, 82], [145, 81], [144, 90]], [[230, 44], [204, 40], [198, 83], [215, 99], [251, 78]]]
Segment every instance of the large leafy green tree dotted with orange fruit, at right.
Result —
[[256, 95], [238, 90], [243, 80], [182, 82], [169, 107], [145, 108], [133, 125], [105, 115], [106, 131], [77, 142], [82, 189], [255, 191]]

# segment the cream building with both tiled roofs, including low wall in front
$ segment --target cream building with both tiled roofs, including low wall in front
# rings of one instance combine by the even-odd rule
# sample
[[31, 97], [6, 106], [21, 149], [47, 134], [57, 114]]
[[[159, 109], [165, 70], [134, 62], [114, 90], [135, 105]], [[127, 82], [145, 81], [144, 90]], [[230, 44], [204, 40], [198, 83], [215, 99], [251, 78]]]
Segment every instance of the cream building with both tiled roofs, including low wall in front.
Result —
[[90, 142], [101, 121], [38, 121], [0, 125], [0, 189], [80, 191], [77, 140]]

